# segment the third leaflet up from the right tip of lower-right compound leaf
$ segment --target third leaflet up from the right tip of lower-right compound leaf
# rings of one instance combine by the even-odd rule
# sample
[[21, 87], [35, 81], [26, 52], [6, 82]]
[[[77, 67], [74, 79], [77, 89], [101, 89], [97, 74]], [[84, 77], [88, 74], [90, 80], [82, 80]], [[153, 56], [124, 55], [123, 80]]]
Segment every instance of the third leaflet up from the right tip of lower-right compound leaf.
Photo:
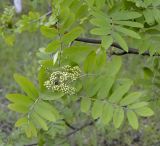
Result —
[[141, 92], [133, 92], [133, 93], [125, 96], [121, 100], [120, 105], [121, 106], [126, 106], [126, 105], [129, 105], [129, 104], [132, 104], [132, 103], [136, 102], [141, 96], [142, 96]]

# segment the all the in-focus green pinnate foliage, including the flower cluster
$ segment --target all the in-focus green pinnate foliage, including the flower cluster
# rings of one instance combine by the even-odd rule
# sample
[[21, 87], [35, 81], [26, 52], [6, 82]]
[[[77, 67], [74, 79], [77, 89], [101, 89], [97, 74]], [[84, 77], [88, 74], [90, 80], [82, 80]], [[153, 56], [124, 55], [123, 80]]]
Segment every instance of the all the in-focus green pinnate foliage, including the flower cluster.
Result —
[[[129, 52], [129, 46], [135, 44], [140, 53], [158, 53], [159, 5], [156, 1], [137, 0], [54, 0], [52, 13], [41, 16], [31, 11], [22, 15], [13, 24], [14, 35], [40, 30], [49, 41], [37, 52], [38, 83], [14, 75], [22, 93], [8, 94], [6, 98], [11, 102], [8, 108], [19, 113], [15, 126], [27, 137], [38, 137], [42, 145], [50, 143], [50, 139], [59, 145], [56, 136], [68, 137], [74, 130], [83, 129], [83, 125], [75, 128], [76, 124], [69, 123], [77, 123], [84, 117], [91, 120], [88, 125], [98, 123], [101, 128], [113, 125], [116, 129], [123, 128], [127, 119], [137, 130], [140, 117], [154, 114], [150, 97], [136, 88], [138, 85], [132, 79], [120, 74], [122, 59], [111, 57], [115, 49], [112, 46], [118, 43], [122, 51]], [[2, 20], [6, 18], [0, 33], [8, 44], [13, 44], [14, 35], [3, 35], [8, 33], [6, 23], [14, 17], [13, 11], [7, 15], [6, 12], [0, 16]], [[90, 35], [99, 36], [101, 45], [75, 41]], [[159, 71], [157, 60], [154, 69]], [[143, 68], [147, 80], [157, 77], [154, 69]], [[155, 86], [159, 87], [159, 82]], [[66, 127], [73, 133], [65, 131]]]

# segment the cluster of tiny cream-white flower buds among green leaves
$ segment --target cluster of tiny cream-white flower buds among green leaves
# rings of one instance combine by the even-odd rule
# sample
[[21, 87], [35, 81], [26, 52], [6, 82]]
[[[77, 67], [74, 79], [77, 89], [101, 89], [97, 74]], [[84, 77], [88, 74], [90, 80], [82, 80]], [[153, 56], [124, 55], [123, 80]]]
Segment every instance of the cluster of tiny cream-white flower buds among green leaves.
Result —
[[69, 65], [55, 71], [50, 75], [49, 80], [45, 81], [44, 86], [53, 91], [63, 92], [73, 95], [76, 92], [75, 87], [71, 83], [80, 77], [81, 70], [78, 66], [71, 67]]

